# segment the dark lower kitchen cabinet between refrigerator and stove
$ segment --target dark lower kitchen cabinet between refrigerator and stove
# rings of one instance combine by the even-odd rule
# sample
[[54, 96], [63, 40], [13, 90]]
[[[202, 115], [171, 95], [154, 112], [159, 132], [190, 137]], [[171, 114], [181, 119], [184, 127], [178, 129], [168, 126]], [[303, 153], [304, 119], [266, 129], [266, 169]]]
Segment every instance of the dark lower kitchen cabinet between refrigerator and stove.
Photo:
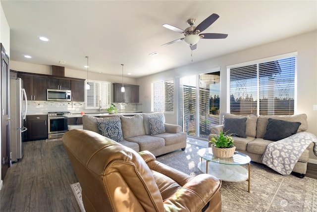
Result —
[[27, 115], [25, 122], [28, 141], [48, 138], [48, 115]]

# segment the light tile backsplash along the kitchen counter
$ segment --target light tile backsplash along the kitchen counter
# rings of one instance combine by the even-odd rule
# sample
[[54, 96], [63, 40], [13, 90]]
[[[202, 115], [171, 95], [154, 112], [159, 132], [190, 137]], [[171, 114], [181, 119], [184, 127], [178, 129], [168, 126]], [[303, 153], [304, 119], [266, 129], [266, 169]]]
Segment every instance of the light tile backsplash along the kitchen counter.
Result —
[[[118, 112], [142, 111], [142, 103], [114, 103]], [[51, 101], [28, 101], [27, 114], [69, 111], [72, 113], [106, 112], [106, 109], [85, 109], [85, 102], [51, 102]]]

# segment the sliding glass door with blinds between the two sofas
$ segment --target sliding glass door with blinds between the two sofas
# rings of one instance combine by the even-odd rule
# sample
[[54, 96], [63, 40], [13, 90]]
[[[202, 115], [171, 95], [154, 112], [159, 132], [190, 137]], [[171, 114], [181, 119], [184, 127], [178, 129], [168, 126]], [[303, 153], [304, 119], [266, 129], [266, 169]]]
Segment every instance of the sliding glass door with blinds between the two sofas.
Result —
[[183, 129], [188, 135], [208, 139], [210, 127], [219, 124], [220, 72], [180, 79]]

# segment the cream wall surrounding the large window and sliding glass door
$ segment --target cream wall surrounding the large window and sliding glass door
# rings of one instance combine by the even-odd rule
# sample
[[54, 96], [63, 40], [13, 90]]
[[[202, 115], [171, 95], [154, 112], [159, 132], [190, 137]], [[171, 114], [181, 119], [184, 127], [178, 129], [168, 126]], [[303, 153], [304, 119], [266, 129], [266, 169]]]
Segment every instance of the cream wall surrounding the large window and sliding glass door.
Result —
[[[199, 51], [197, 49], [196, 51]], [[187, 66], [178, 67], [165, 72], [146, 76], [137, 80], [140, 85], [140, 101], [143, 103], [143, 110], [151, 110], [151, 83], [159, 80], [176, 79], [176, 77], [207, 73], [213, 67], [220, 67], [220, 111], [226, 112], [227, 79], [226, 66], [261, 59], [274, 55], [298, 52], [298, 74], [297, 74], [297, 113], [306, 113], [308, 116], [308, 132], [317, 135], [317, 31], [283, 39], [262, 46], [246, 49], [243, 51], [222, 55], [207, 59], [201, 62], [191, 63]], [[176, 104], [176, 97], [174, 103]], [[175, 109], [177, 109], [175, 107]], [[222, 115], [221, 115], [222, 116]], [[166, 122], [176, 123], [177, 112], [165, 114]], [[310, 159], [317, 163], [317, 157], [310, 153]]]

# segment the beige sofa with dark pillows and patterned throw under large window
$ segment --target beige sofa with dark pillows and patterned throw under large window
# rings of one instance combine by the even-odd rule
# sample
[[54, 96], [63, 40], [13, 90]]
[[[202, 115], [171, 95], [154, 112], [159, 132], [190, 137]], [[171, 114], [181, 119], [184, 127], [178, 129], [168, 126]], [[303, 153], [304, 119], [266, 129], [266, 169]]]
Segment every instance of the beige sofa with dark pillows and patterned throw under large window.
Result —
[[[236, 151], [248, 155], [252, 161], [259, 162], [259, 163], [263, 163], [262, 156], [264, 154], [264, 151], [266, 150], [266, 146], [274, 142], [272, 140], [264, 139], [270, 136], [267, 133], [267, 125], [269, 123], [269, 118], [289, 121], [289, 122], [300, 122], [300, 125], [296, 133], [305, 132], [308, 128], [306, 114], [257, 116], [256, 114], [234, 115], [230, 113], [225, 113], [223, 115], [224, 124], [211, 127], [210, 129], [211, 134], [209, 136], [209, 140], [211, 139], [212, 136], [214, 136], [214, 134], [218, 134], [220, 131], [228, 131], [228, 127], [224, 126], [226, 123], [226, 119], [229, 124], [230, 123], [229, 120], [233, 120], [233, 119], [242, 120], [243, 118], [246, 118], [245, 138], [243, 135], [242, 136], [239, 135], [240, 137], [234, 136], [235, 134], [232, 135], [234, 139], [234, 145], [236, 146]], [[243, 124], [236, 124], [236, 126], [232, 126], [232, 128], [236, 128], [235, 130], [239, 131], [240, 130], [239, 128], [241, 128], [241, 125]], [[278, 132], [284, 133], [284, 131], [287, 130], [282, 128], [283, 126], [281, 126], [281, 128], [278, 129]], [[232, 132], [228, 131], [228, 133], [232, 133]], [[309, 133], [307, 132], [307, 134]], [[288, 138], [292, 139], [292, 136], [289, 136]], [[211, 146], [211, 143], [209, 143], [209, 145]], [[309, 160], [309, 151], [311, 148], [313, 148], [313, 146], [314, 146], [314, 143], [311, 143], [309, 145], [309, 147], [304, 151], [304, 153], [298, 159], [298, 161], [296, 162], [293, 168], [293, 172], [297, 172], [298, 173], [297, 176], [299, 177], [304, 177], [306, 174], [307, 162]]]

